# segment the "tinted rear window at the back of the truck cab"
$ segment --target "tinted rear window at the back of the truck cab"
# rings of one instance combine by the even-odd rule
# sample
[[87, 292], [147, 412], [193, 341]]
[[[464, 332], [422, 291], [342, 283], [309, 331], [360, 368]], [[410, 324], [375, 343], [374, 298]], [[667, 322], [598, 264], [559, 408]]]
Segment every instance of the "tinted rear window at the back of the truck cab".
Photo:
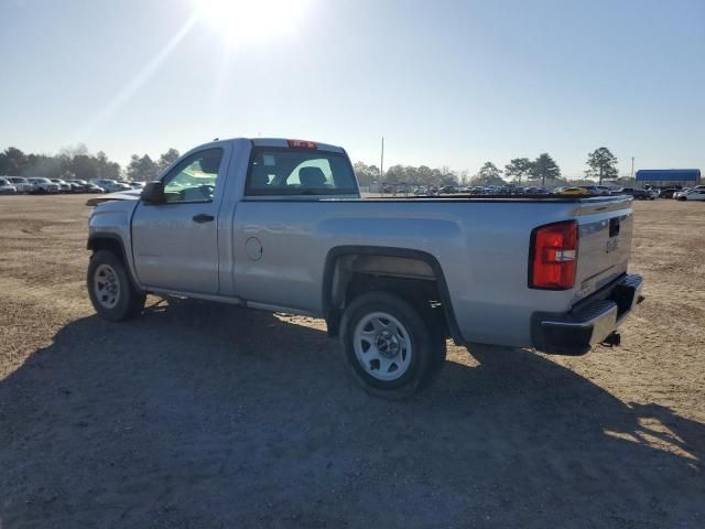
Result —
[[250, 158], [245, 194], [357, 194], [357, 182], [350, 162], [343, 153], [259, 147]]

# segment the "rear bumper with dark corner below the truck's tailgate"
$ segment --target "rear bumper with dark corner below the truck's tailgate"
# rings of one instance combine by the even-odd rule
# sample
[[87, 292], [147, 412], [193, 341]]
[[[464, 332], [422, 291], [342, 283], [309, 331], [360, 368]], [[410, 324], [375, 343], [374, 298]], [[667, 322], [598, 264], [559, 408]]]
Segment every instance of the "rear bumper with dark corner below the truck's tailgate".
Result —
[[556, 355], [584, 355], [612, 334], [643, 299], [642, 284], [640, 276], [626, 274], [567, 313], [534, 313], [534, 348]]

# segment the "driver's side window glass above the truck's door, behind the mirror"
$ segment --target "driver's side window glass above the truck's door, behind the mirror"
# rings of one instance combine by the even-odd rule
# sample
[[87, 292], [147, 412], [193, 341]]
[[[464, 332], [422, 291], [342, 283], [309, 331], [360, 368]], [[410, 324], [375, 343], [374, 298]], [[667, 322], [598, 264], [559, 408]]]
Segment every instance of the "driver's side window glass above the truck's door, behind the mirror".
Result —
[[183, 160], [164, 176], [167, 204], [213, 202], [223, 149], [207, 149]]

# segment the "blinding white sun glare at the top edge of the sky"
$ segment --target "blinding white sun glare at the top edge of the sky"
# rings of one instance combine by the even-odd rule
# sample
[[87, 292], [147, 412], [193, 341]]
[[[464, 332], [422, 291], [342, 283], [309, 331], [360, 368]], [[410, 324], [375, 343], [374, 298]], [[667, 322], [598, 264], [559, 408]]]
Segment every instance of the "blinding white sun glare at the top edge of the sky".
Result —
[[194, 0], [196, 17], [227, 46], [262, 43], [296, 32], [307, 0]]

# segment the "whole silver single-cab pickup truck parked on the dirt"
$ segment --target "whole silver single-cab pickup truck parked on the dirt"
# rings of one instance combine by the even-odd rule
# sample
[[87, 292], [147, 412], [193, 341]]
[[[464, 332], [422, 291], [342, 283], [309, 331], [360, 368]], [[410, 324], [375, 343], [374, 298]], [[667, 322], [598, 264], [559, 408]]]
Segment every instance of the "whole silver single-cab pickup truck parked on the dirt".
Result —
[[361, 198], [339, 147], [214, 141], [89, 219], [98, 314], [147, 293], [325, 319], [356, 381], [406, 397], [456, 344], [582, 355], [642, 298], [631, 197]]

